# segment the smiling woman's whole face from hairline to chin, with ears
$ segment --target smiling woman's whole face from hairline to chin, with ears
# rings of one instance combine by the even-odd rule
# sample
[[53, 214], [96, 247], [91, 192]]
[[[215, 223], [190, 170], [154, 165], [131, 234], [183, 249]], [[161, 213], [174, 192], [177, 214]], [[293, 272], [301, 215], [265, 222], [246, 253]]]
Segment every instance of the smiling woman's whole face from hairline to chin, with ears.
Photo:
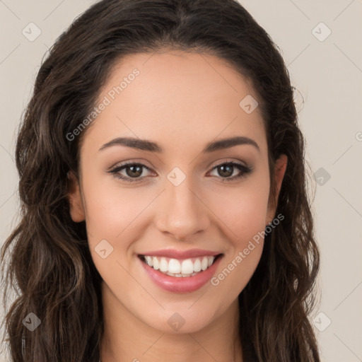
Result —
[[[86, 220], [105, 308], [164, 332], [177, 332], [174, 322], [192, 332], [235, 307], [275, 212], [251, 97], [240, 74], [204, 54], [133, 54], [113, 69], [83, 131], [80, 189], [74, 182], [69, 194], [73, 220]], [[239, 142], [218, 143], [233, 137]], [[279, 187], [285, 161], [276, 164]], [[209, 267], [211, 255], [221, 257]], [[165, 275], [194, 273], [197, 259], [194, 276]]]

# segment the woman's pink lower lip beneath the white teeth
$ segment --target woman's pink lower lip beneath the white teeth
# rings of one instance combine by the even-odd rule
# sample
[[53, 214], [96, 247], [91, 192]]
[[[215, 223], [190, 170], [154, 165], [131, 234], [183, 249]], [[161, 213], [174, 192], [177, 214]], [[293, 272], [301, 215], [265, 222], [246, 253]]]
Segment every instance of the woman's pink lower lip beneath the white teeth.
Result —
[[192, 291], [197, 291], [197, 289], [204, 286], [204, 284], [211, 279], [211, 277], [215, 274], [222, 257], [223, 255], [219, 256], [214, 264], [206, 270], [200, 271], [194, 276], [180, 276], [180, 278], [177, 276], [163, 274], [159, 270], [155, 270], [145, 262], [142, 262], [140, 258], [138, 259], [151, 280], [160, 288], [173, 293], [190, 293]]

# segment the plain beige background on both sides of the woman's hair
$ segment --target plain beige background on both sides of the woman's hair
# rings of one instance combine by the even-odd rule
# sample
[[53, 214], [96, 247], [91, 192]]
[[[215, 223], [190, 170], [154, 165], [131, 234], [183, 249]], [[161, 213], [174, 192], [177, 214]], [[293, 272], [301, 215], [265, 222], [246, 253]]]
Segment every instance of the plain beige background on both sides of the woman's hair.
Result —
[[[0, 0], [0, 243], [18, 221], [16, 129], [42, 57], [94, 2]], [[306, 158], [313, 173], [318, 170], [310, 192], [316, 192], [316, 235], [322, 252], [322, 298], [313, 315], [322, 331], [316, 329], [322, 361], [362, 361], [362, 1], [240, 2], [279, 45], [288, 64], [300, 92], [296, 101], [307, 139]], [[22, 34], [30, 22], [41, 30], [33, 42]], [[325, 25], [318, 25], [321, 22]], [[320, 41], [328, 29], [332, 33]], [[0, 355], [0, 362], [5, 356]]]

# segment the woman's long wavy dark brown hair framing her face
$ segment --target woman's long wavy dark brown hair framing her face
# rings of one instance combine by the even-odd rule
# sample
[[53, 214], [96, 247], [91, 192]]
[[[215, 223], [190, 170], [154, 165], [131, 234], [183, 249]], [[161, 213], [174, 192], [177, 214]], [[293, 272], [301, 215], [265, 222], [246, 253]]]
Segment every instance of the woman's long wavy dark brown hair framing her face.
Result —
[[[288, 166], [276, 209], [284, 220], [265, 237], [259, 265], [238, 298], [244, 358], [319, 362], [308, 315], [320, 261], [293, 87], [274, 42], [234, 0], [103, 0], [50, 49], [16, 144], [21, 222], [1, 250], [4, 303], [8, 288], [18, 292], [4, 320], [13, 362], [98, 362], [101, 278], [86, 224], [69, 214], [66, 175], [78, 175], [81, 137], [66, 135], [91, 112], [119, 59], [158, 49], [225, 59], [259, 95], [271, 190], [281, 153]], [[23, 325], [29, 313], [41, 321], [33, 332]]]

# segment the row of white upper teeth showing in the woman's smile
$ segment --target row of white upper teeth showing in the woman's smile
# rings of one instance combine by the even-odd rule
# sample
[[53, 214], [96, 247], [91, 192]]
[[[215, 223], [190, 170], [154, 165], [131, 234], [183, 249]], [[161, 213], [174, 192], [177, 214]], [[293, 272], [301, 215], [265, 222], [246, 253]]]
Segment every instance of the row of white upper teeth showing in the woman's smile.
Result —
[[153, 267], [153, 269], [160, 270], [164, 274], [176, 277], [192, 276], [199, 271], [204, 271], [211, 267], [215, 259], [214, 256], [201, 257], [194, 259], [194, 262], [192, 262], [192, 259], [180, 261], [177, 259], [166, 259], [165, 257], [152, 257], [150, 255], [145, 255], [144, 258], [146, 264]]

